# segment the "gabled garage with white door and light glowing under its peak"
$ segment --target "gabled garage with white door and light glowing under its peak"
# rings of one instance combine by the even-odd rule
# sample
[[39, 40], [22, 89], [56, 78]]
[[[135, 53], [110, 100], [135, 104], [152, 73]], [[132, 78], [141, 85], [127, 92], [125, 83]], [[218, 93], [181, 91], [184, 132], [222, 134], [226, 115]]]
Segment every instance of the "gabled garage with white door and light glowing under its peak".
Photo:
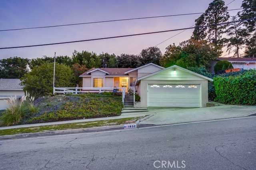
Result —
[[136, 107], [206, 107], [211, 78], [170, 66], [136, 79]]

